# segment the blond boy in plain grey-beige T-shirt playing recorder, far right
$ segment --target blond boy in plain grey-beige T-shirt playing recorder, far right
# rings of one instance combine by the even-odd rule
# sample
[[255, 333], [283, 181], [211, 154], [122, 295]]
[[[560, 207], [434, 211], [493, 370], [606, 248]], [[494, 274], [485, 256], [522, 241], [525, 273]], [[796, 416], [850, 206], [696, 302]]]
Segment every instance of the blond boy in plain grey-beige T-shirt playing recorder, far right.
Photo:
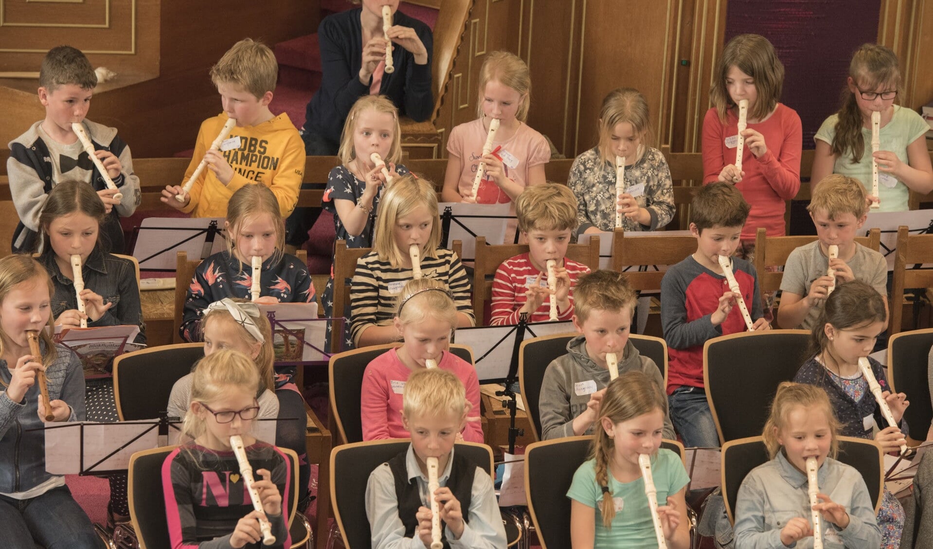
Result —
[[[817, 239], [787, 256], [781, 278], [781, 305], [777, 323], [785, 328], [813, 328], [836, 283], [853, 280], [870, 284], [884, 296], [887, 308], [887, 262], [884, 255], [855, 238], [868, 217], [868, 193], [856, 179], [840, 174], [823, 178], [814, 188], [810, 217]], [[829, 259], [829, 246], [839, 246], [839, 256]], [[829, 268], [834, 276], [829, 275]]]

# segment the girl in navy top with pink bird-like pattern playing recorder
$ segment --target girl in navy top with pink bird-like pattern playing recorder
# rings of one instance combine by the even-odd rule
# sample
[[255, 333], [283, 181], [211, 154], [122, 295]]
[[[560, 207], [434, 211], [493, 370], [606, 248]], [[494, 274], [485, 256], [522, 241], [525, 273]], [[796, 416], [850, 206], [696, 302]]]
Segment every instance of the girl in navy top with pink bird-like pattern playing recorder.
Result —
[[224, 223], [228, 250], [201, 262], [188, 286], [179, 329], [186, 341], [201, 341], [204, 309], [224, 297], [249, 299], [252, 257], [262, 257], [257, 303], [311, 303], [314, 284], [307, 266], [285, 254], [285, 225], [279, 203], [265, 185], [245, 185], [233, 193]]

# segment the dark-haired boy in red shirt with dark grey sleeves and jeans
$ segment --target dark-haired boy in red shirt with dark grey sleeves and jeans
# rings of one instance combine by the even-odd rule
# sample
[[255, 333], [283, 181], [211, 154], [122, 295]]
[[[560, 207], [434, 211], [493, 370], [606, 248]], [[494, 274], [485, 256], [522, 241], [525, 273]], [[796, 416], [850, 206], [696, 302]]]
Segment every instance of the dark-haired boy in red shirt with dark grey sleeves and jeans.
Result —
[[[719, 446], [703, 385], [703, 344], [745, 331], [737, 299], [745, 301], [756, 331], [770, 328], [762, 313], [755, 268], [733, 257], [749, 210], [734, 185], [704, 185], [690, 204], [690, 233], [697, 251], [668, 268], [661, 279], [661, 327], [669, 353], [667, 400], [684, 446]], [[730, 290], [720, 255], [731, 257], [739, 293]]]

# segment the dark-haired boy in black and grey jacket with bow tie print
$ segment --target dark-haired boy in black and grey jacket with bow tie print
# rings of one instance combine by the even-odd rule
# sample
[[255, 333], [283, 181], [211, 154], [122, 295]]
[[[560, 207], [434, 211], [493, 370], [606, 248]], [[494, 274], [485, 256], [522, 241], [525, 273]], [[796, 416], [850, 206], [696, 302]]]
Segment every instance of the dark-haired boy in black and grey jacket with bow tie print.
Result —
[[[85, 118], [95, 86], [94, 68], [79, 49], [49, 49], [39, 70], [38, 89], [46, 117], [8, 145], [9, 190], [20, 215], [11, 244], [14, 253], [36, 251], [40, 243], [35, 238], [39, 214], [52, 187], [64, 180], [86, 182], [97, 191], [106, 207], [107, 216], [100, 230], [109, 240], [109, 251], [124, 252], [119, 216], [130, 216], [139, 206], [139, 178], [132, 172], [130, 147], [118, 137], [117, 130]], [[118, 190], [104, 184], [104, 177], [72, 130], [76, 122], [84, 127], [94, 145], [94, 156], [101, 160]], [[114, 199], [117, 193], [122, 193], [123, 198]]]

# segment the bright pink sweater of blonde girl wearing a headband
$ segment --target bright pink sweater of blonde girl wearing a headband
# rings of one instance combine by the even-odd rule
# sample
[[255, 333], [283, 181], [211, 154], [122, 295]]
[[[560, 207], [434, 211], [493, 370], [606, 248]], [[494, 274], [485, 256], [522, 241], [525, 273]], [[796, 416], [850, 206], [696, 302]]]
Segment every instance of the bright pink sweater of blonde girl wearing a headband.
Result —
[[[446, 350], [438, 367], [453, 372], [453, 375], [463, 382], [466, 388], [466, 402], [471, 405], [466, 413], [464, 440], [482, 444], [480, 380], [476, 375], [476, 368]], [[411, 369], [398, 358], [397, 349], [383, 352], [366, 367], [360, 402], [363, 440], [411, 436], [402, 425], [401, 415], [402, 393], [409, 376]]]

